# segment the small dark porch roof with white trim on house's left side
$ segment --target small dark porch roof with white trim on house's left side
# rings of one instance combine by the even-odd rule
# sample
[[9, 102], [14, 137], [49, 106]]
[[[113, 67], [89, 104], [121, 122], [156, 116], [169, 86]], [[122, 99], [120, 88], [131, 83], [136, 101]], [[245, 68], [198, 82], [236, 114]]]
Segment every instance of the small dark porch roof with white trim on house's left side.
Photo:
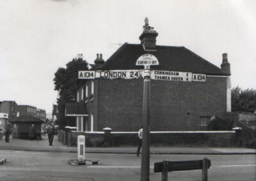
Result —
[[65, 116], [88, 116], [85, 103], [66, 103]]

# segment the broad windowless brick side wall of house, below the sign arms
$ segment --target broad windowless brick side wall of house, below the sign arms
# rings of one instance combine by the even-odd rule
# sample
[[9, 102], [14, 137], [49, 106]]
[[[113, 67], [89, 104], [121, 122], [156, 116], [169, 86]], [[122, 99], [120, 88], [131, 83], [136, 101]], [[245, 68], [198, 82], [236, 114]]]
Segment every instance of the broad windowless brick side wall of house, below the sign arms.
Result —
[[[138, 131], [142, 124], [143, 80], [95, 82], [98, 95], [92, 104], [97, 106], [90, 106], [89, 111], [98, 110], [97, 130], [111, 127], [112, 131]], [[150, 130], [199, 130], [200, 116], [226, 112], [226, 83], [224, 77], [207, 77], [207, 82], [152, 80]]]

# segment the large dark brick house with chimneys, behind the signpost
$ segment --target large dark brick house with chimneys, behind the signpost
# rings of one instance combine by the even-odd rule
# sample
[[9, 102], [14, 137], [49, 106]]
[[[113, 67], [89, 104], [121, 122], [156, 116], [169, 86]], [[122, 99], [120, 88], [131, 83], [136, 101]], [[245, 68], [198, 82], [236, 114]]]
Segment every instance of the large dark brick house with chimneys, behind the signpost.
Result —
[[[219, 68], [185, 47], [156, 45], [157, 35], [146, 18], [140, 44], [125, 43], [106, 62], [97, 55], [93, 69], [102, 71], [102, 76], [84, 80], [76, 91], [76, 101], [86, 106], [86, 112], [79, 110], [84, 106], [77, 108], [83, 115], [73, 110], [79, 131], [102, 131], [104, 127], [138, 131], [142, 124], [143, 78], [138, 76], [142, 70], [136, 70], [143, 66], [136, 66], [136, 61], [144, 54], [154, 55], [159, 61], [159, 65], [151, 66], [157, 76], [150, 85], [151, 131], [204, 130], [212, 116], [231, 112], [227, 54], [223, 54]], [[104, 78], [109, 70], [135, 71], [130, 78]], [[184, 80], [188, 75], [189, 80]], [[204, 76], [203, 80], [196, 78], [198, 75]]]

